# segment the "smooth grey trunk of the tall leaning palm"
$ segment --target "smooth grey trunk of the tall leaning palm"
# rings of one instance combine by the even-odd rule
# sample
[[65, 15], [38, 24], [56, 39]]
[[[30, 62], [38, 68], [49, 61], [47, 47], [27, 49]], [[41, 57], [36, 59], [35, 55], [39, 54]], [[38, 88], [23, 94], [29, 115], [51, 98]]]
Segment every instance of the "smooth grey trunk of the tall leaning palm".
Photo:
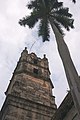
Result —
[[78, 73], [74, 67], [74, 64], [71, 60], [70, 53], [68, 47], [63, 39], [63, 36], [60, 34], [56, 26], [53, 24], [52, 19], [49, 19], [53, 32], [55, 34], [57, 47], [59, 55], [62, 59], [62, 63], [64, 66], [65, 74], [68, 80], [68, 84], [71, 90], [71, 95], [74, 101], [74, 105], [77, 109], [78, 116], [80, 119], [80, 80]]

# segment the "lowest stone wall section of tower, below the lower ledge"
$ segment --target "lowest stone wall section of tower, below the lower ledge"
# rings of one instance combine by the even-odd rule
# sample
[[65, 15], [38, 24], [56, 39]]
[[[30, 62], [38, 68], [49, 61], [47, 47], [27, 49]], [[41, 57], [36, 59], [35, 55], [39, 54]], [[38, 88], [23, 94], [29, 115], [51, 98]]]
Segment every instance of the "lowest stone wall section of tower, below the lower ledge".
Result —
[[30, 100], [9, 95], [0, 120], [50, 120], [55, 109]]

